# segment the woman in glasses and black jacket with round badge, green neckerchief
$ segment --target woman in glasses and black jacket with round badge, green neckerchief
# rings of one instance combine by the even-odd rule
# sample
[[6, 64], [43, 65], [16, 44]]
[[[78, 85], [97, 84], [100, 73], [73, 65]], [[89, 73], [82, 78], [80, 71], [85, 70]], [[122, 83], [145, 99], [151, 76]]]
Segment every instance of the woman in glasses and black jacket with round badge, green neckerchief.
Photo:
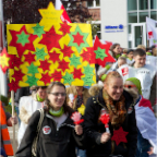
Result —
[[[65, 86], [52, 82], [47, 88], [44, 120], [38, 131], [37, 157], [76, 157], [75, 146], [83, 146], [83, 128], [74, 125], [71, 116], [73, 110], [65, 101]], [[16, 157], [32, 157], [32, 145], [40, 112], [37, 110], [29, 119], [25, 135], [17, 149]]]

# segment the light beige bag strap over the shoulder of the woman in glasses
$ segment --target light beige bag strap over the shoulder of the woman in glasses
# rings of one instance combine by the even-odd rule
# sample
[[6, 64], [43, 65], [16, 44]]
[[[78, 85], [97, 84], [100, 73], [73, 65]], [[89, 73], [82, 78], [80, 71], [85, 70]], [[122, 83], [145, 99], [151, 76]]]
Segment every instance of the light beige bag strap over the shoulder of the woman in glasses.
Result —
[[37, 150], [37, 141], [38, 141], [38, 136], [39, 136], [39, 131], [40, 131], [40, 128], [41, 128], [41, 123], [43, 123], [43, 120], [44, 120], [44, 117], [45, 117], [45, 112], [44, 112], [44, 109], [40, 108], [38, 109], [38, 111], [40, 112], [40, 118], [39, 118], [39, 121], [38, 121], [38, 125], [37, 125], [37, 135], [36, 137], [34, 138], [33, 141], [33, 145], [32, 145], [32, 154], [33, 156], [36, 156], [36, 150]]

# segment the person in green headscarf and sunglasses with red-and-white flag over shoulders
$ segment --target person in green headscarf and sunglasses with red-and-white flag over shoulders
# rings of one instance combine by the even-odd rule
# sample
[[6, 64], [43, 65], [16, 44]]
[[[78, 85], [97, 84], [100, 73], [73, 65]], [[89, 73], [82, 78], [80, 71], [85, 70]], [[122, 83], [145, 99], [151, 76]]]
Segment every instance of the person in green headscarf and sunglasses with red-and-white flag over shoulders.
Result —
[[141, 82], [130, 77], [124, 83], [124, 89], [134, 98], [137, 124], [137, 152], [136, 157], [156, 156], [157, 154], [157, 120], [152, 104], [142, 96]]

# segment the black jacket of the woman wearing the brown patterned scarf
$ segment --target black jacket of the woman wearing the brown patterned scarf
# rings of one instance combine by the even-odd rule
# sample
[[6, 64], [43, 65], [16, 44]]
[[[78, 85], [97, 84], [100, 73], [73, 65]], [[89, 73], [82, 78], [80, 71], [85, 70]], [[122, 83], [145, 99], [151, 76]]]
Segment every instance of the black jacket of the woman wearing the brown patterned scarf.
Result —
[[[125, 90], [123, 92], [123, 96], [125, 97], [125, 108], [128, 110], [133, 99]], [[109, 140], [105, 144], [100, 143], [101, 133], [106, 132], [105, 124], [99, 121], [99, 114], [102, 108], [100, 104], [106, 107], [105, 100], [102, 98], [102, 89], [99, 92], [99, 95], [97, 97], [90, 97], [86, 104], [84, 116], [84, 131], [88, 138], [86, 143], [86, 153], [88, 157], [108, 157], [109, 155], [111, 155], [111, 140]], [[114, 150], [112, 154], [123, 155], [124, 157], [134, 157], [137, 142], [137, 129], [134, 107], [132, 113], [129, 113], [126, 116], [122, 128], [125, 132], [129, 132], [129, 134], [126, 135], [128, 143], [120, 143], [118, 146], [114, 144]], [[111, 123], [109, 123], [109, 130], [112, 136], [113, 129], [111, 126]]]

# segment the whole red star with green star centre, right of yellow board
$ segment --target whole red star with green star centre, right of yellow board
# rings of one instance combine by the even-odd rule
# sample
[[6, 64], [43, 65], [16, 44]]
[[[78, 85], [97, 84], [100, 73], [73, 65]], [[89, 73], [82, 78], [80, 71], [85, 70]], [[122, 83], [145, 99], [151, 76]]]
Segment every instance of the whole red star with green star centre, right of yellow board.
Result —
[[92, 53], [95, 58], [96, 64], [105, 67], [106, 62], [116, 62], [113, 57], [109, 53], [109, 49], [110, 43], [101, 44], [99, 38], [96, 36], [94, 43], [94, 52]]

